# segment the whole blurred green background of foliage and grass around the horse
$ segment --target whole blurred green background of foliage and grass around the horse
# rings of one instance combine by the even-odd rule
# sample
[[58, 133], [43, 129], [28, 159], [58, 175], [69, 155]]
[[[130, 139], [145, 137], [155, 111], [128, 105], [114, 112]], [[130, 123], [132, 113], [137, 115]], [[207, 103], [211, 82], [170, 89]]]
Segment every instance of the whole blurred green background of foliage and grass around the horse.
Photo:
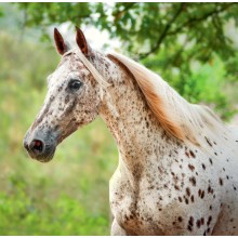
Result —
[[237, 12], [238, 3], [0, 3], [0, 235], [109, 235], [118, 154], [104, 122], [66, 138], [50, 163], [22, 146], [60, 62], [53, 27], [107, 32], [103, 49], [120, 48], [229, 122], [238, 103]]

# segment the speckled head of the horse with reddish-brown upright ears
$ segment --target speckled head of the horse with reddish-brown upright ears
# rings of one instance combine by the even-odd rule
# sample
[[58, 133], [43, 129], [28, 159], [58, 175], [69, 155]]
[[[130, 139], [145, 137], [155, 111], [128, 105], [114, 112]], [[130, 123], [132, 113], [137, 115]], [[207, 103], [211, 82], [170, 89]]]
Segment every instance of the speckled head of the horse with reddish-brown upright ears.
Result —
[[24, 138], [29, 156], [41, 162], [53, 158], [56, 146], [64, 138], [93, 121], [102, 102], [102, 83], [95, 80], [97, 72], [93, 76], [87, 60], [95, 55], [82, 31], [77, 28], [75, 49], [69, 48], [57, 29], [54, 40], [62, 60], [48, 77], [44, 104]]

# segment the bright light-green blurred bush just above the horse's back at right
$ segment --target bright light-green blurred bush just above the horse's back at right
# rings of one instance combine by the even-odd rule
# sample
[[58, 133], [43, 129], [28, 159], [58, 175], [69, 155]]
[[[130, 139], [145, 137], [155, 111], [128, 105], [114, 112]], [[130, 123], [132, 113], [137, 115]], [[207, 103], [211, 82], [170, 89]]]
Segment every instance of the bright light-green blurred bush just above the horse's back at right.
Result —
[[210, 64], [197, 65], [191, 69], [190, 78], [184, 80], [183, 94], [191, 103], [215, 107], [223, 119], [228, 119], [236, 110], [226, 96], [225, 75], [224, 64], [219, 57]]

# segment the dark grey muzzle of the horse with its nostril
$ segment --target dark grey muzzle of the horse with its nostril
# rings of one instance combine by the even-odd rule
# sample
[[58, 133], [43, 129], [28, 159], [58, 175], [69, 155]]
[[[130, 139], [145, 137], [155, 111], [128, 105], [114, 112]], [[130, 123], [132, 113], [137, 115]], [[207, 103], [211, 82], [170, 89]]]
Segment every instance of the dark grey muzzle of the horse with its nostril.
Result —
[[50, 161], [56, 149], [56, 140], [53, 133], [38, 131], [31, 134], [26, 133], [23, 145], [28, 155], [40, 162]]

